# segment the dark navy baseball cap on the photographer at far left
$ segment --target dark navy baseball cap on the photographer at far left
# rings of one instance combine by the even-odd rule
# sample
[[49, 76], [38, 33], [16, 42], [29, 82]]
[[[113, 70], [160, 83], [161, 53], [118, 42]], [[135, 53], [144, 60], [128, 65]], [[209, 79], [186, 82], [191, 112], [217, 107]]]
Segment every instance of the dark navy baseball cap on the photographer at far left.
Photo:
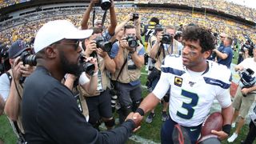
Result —
[[17, 40], [10, 46], [9, 58], [17, 58], [25, 50], [30, 50], [30, 48], [26, 47], [25, 42], [22, 40]]

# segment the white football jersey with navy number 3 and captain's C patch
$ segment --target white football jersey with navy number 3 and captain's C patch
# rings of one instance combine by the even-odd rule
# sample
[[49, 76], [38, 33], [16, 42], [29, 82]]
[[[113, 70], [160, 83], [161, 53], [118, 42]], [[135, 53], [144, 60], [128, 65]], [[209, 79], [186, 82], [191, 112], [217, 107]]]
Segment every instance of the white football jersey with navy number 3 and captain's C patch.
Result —
[[231, 71], [226, 66], [207, 61], [205, 72], [186, 70], [182, 57], [166, 56], [161, 78], [153, 94], [161, 99], [170, 88], [170, 118], [182, 126], [198, 126], [210, 112], [216, 98], [222, 108], [231, 105]]

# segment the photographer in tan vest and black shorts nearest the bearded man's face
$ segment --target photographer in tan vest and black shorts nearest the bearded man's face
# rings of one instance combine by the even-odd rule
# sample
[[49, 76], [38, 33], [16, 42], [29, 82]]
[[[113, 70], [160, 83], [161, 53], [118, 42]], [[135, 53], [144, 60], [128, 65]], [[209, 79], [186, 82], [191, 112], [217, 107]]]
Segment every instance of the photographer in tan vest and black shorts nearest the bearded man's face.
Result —
[[98, 71], [95, 73], [98, 77], [98, 86], [93, 94], [85, 93], [86, 103], [89, 109], [89, 122], [98, 129], [101, 120], [105, 122], [106, 128], [110, 130], [114, 126], [114, 118], [111, 109], [110, 98], [110, 73], [115, 72], [114, 60], [107, 54], [109, 47], [107, 42], [104, 46], [100, 46], [98, 39], [102, 38], [102, 33], [99, 28], [94, 28], [90, 38], [85, 40], [86, 57], [93, 56], [98, 61]]

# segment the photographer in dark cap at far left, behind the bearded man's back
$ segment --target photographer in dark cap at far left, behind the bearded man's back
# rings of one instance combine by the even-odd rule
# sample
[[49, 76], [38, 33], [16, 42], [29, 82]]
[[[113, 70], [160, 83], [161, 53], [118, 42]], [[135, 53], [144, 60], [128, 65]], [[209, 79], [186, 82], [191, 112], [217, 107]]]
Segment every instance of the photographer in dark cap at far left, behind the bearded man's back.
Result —
[[15, 134], [18, 136], [19, 142], [24, 142], [21, 115], [21, 102], [23, 83], [20, 81], [22, 77], [29, 76], [33, 71], [33, 66], [25, 65], [19, 57], [29, 48], [25, 42], [18, 40], [10, 46], [9, 58], [11, 69], [0, 77], [0, 94], [6, 98], [5, 113], [10, 119]]

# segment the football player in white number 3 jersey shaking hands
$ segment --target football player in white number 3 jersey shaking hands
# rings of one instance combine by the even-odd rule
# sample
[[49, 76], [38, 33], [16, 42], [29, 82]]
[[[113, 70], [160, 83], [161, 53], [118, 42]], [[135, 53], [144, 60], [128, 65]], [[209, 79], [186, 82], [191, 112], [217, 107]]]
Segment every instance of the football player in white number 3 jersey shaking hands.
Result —
[[140, 104], [134, 118], [141, 119], [152, 110], [170, 88], [170, 118], [162, 126], [162, 143], [173, 143], [174, 125], [186, 129], [192, 143], [198, 140], [202, 122], [216, 98], [222, 106], [221, 131], [212, 130], [219, 139], [230, 134], [233, 108], [230, 100], [231, 72], [226, 66], [207, 61], [214, 49], [214, 39], [208, 30], [186, 26], [182, 32], [182, 56], [166, 56], [157, 86]]

